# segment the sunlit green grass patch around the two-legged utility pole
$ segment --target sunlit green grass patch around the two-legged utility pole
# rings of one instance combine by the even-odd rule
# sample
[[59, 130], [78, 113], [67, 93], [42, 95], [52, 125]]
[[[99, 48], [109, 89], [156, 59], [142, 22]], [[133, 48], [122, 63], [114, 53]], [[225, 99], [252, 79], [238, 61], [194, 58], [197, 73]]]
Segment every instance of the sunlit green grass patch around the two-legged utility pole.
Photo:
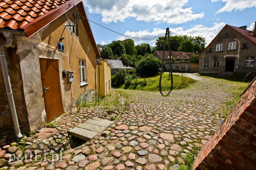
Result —
[[[159, 78], [160, 74], [153, 77], [141, 78], [139, 81], [136, 79], [132, 80], [130, 85], [123, 85], [122, 89], [136, 89], [136, 90], [145, 90], [145, 91], [158, 91], [159, 90]], [[193, 83], [196, 80], [193, 80], [188, 77], [184, 77], [181, 80], [181, 76], [173, 74], [173, 89], [182, 89]], [[170, 90], [171, 88], [171, 78], [168, 74], [162, 74], [161, 81], [162, 90]]]

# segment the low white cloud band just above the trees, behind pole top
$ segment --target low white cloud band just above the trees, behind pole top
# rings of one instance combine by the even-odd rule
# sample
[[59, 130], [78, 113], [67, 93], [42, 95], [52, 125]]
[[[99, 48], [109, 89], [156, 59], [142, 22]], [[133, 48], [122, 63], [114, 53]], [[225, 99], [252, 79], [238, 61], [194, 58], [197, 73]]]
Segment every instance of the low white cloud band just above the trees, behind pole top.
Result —
[[[226, 24], [223, 22], [214, 23], [212, 27], [206, 27], [204, 25], [193, 25], [193, 27], [188, 29], [184, 29], [183, 27], [170, 28], [170, 31], [173, 36], [177, 34], [190, 35], [190, 36], [202, 36], [205, 38], [206, 46], [207, 46], [225, 25]], [[161, 34], [160, 36], [164, 36], [165, 30], [154, 28], [152, 32], [149, 32], [149, 30], [143, 30], [138, 32], [126, 31], [124, 35], [130, 36], [130, 37], [136, 37], [136, 38], [151, 39], [151, 38], [158, 37], [159, 34]], [[122, 36], [122, 37], [119, 37], [118, 39], [124, 40], [127, 38], [128, 37]], [[155, 40], [133, 39], [133, 40], [136, 45], [141, 43], [150, 43], [150, 45], [152, 45], [154, 43], [153, 46], [155, 46], [155, 42], [156, 42], [156, 39]]]

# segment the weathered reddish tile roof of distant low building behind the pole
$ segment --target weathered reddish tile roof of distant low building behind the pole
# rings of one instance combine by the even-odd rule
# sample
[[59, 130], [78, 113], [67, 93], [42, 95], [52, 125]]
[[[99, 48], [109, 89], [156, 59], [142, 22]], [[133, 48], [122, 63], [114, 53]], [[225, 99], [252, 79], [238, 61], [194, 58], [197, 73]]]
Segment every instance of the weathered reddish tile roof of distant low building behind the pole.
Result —
[[[156, 51], [156, 54], [161, 59], [163, 57], [163, 51]], [[174, 59], [183, 59], [183, 60], [189, 60], [191, 58], [191, 55], [195, 55], [195, 53], [188, 53], [188, 52], [182, 52], [182, 51], [172, 51], [172, 58]], [[164, 59], [169, 59], [169, 51], [165, 51], [164, 53]]]

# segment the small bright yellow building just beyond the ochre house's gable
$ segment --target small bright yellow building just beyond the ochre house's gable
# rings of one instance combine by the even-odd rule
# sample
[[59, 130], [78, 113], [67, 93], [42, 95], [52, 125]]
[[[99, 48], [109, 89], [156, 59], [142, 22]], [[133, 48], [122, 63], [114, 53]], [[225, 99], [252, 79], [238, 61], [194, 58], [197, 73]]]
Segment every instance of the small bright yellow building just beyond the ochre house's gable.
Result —
[[[98, 97], [106, 97], [111, 92], [111, 68], [107, 60], [98, 60], [97, 62], [97, 84], [98, 84]], [[100, 66], [100, 67], [99, 67]], [[100, 71], [99, 71], [100, 68]], [[100, 73], [100, 75], [99, 75]], [[100, 81], [100, 82], [99, 82]], [[100, 94], [99, 94], [100, 92]]]

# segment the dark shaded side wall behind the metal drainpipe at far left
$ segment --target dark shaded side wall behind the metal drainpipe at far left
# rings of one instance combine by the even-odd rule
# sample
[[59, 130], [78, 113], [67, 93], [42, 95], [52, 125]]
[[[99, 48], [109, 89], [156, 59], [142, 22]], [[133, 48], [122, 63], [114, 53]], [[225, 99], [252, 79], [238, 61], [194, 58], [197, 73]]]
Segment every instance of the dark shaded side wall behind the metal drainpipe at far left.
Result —
[[[4, 38], [0, 38], [0, 44], [4, 43]], [[24, 105], [24, 94], [23, 85], [20, 72], [20, 61], [18, 56], [15, 54], [15, 48], [9, 47], [6, 54], [6, 62], [8, 67], [8, 73], [10, 76], [10, 81], [12, 85], [13, 98], [15, 103], [15, 108], [17, 112], [18, 121], [20, 123], [21, 131], [28, 131], [28, 115], [26, 112], [26, 106]], [[12, 131], [12, 118], [9, 111], [9, 105], [7, 97], [5, 95], [5, 86], [2, 76], [2, 70], [0, 67], [0, 134], [5, 134]]]

